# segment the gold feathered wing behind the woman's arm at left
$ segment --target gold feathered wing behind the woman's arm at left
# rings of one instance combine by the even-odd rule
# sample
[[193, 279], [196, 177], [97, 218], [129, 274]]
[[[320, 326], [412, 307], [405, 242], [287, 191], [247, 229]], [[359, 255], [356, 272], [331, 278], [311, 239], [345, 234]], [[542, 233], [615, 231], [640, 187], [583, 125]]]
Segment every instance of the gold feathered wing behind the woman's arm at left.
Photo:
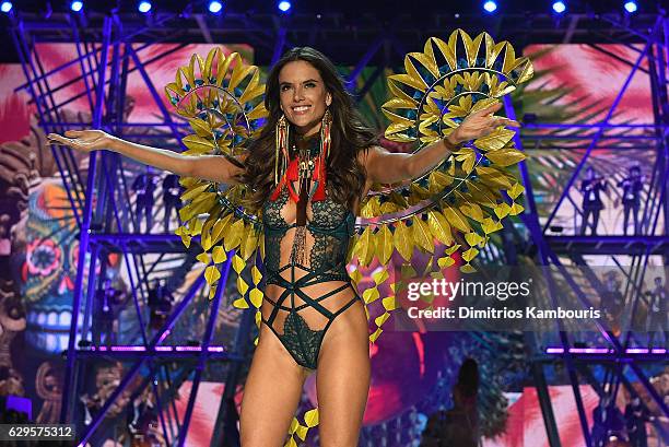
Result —
[[[267, 116], [258, 67], [245, 64], [236, 52], [225, 56], [222, 48], [213, 48], [204, 59], [193, 55], [188, 66], [177, 70], [175, 82], [165, 86], [165, 93], [192, 131], [181, 140], [187, 148], [185, 154], [215, 154], [238, 163], [236, 157], [244, 154]], [[242, 294], [234, 305], [259, 308], [262, 275], [255, 263], [263, 257], [262, 228], [258, 215], [240, 207], [248, 193], [246, 185], [231, 187], [191, 177], [183, 177], [180, 184], [186, 189], [179, 211], [184, 225], [176, 234], [186, 246], [199, 236], [203, 251], [198, 260], [208, 266], [204, 278], [210, 297], [221, 278], [219, 266], [234, 252], [232, 267]], [[242, 278], [247, 266], [251, 284]]]

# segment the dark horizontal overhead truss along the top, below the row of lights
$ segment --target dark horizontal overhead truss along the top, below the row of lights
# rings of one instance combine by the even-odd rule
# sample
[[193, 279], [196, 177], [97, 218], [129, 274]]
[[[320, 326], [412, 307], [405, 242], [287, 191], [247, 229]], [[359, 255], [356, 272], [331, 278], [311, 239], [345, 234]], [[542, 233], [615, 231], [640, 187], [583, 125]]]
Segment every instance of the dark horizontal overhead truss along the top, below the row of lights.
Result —
[[[234, 10], [222, 15], [204, 13], [204, 2], [179, 4], [173, 12], [152, 15], [128, 13], [118, 10], [87, 11], [75, 17], [70, 13], [52, 12], [44, 20], [44, 11], [17, 12], [26, 27], [40, 42], [71, 42], [69, 33], [73, 20], [82, 22], [81, 38], [102, 42], [105, 17], [122, 23], [126, 35], [151, 36], [161, 42], [187, 43], [245, 43], [254, 46], [255, 63], [266, 66], [275, 59], [275, 43], [283, 40], [287, 47], [313, 46], [340, 64], [355, 64], [368, 51], [371, 44], [386, 37], [389, 46], [399, 47], [403, 55], [423, 48], [431, 36], [444, 36], [461, 27], [469, 32], [488, 31], [500, 39], [512, 39], [519, 47], [526, 44], [568, 44], [591, 42], [638, 43], [645, 40], [645, 31], [653, 27], [656, 14], [639, 13], [626, 17], [619, 12], [573, 13], [559, 19], [550, 13], [507, 12], [489, 16], [482, 14], [479, 4], [434, 4], [424, 10], [416, 4], [407, 8], [373, 7], [372, 3], [339, 2], [338, 12], [320, 10], [318, 5], [301, 4], [291, 14], [278, 14], [268, 2], [247, 11]], [[269, 2], [271, 3], [271, 2]], [[545, 8], [549, 5], [547, 4]], [[169, 23], [171, 25], [165, 25]], [[283, 31], [282, 31], [283, 30]], [[407, 50], [404, 50], [404, 48]], [[387, 54], [391, 49], [387, 48]], [[383, 63], [384, 54], [371, 60]], [[401, 60], [397, 58], [396, 60]]]

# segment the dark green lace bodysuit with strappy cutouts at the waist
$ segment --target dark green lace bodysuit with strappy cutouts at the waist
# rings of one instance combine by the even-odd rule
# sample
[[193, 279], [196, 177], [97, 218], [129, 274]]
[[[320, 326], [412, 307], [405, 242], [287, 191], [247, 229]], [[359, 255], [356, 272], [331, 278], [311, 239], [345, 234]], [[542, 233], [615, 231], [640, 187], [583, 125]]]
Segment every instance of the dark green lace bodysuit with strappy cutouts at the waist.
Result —
[[266, 267], [262, 322], [297, 364], [316, 369], [320, 345], [334, 318], [357, 299], [362, 303], [347, 272], [355, 216], [329, 196], [309, 201], [305, 256], [298, 263], [290, 256], [297, 228], [295, 210], [285, 187], [277, 200], [268, 200], [262, 208]]

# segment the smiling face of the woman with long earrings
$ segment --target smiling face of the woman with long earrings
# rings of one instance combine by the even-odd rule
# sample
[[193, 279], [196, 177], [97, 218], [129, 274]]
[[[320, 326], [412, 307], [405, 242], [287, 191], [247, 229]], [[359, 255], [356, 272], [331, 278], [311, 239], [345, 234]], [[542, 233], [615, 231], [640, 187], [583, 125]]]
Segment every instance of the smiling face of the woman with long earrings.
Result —
[[332, 103], [320, 73], [304, 60], [286, 63], [279, 72], [281, 110], [304, 137], [320, 130], [326, 108]]

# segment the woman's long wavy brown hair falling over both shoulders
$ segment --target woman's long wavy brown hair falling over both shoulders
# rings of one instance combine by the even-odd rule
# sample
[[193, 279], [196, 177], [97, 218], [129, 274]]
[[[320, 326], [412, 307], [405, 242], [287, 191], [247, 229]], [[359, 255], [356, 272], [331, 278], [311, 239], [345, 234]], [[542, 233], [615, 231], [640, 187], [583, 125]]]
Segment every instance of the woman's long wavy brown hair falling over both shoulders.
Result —
[[[357, 163], [360, 151], [377, 144], [376, 133], [364, 125], [353, 101], [347, 93], [334, 64], [320, 51], [310, 47], [290, 49], [271, 69], [267, 79], [265, 107], [269, 117], [259, 137], [249, 146], [242, 183], [250, 187], [251, 196], [246, 205], [259, 210], [274, 188], [275, 128], [283, 114], [280, 107], [279, 73], [289, 62], [304, 60], [322, 78], [326, 91], [332, 95], [329, 106], [332, 114], [331, 148], [327, 163], [328, 193], [339, 203], [352, 207], [363, 192], [364, 167]], [[291, 125], [291, 133], [295, 134]]]

